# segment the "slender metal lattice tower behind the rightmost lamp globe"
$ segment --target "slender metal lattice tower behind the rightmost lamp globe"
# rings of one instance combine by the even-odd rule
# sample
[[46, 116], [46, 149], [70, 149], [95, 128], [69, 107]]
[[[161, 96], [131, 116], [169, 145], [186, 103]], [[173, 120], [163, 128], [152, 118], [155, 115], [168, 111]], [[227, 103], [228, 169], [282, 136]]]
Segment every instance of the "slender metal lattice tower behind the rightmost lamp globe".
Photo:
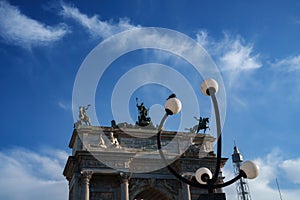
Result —
[[[235, 175], [237, 175], [239, 174], [240, 167], [243, 163], [243, 155], [239, 152], [236, 145], [234, 145], [233, 148], [232, 162], [234, 167], [234, 173]], [[241, 178], [236, 182], [236, 191], [238, 200], [251, 200], [249, 186], [244, 178]]]

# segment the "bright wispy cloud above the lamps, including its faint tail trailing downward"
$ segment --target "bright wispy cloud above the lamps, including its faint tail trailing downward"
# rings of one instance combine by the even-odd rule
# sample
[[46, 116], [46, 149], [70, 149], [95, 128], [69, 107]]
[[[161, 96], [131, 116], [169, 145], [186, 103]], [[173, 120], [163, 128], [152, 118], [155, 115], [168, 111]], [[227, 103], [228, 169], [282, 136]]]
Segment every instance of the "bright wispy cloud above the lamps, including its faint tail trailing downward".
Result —
[[[210, 37], [206, 30], [197, 33], [196, 39], [211, 55], [220, 69], [226, 86], [227, 96], [231, 97], [234, 108], [247, 108], [247, 102], [238, 92], [249, 87], [252, 74], [262, 67], [259, 53], [254, 44], [246, 42], [240, 35], [224, 32], [219, 40]], [[238, 106], [237, 106], [238, 105]]]

